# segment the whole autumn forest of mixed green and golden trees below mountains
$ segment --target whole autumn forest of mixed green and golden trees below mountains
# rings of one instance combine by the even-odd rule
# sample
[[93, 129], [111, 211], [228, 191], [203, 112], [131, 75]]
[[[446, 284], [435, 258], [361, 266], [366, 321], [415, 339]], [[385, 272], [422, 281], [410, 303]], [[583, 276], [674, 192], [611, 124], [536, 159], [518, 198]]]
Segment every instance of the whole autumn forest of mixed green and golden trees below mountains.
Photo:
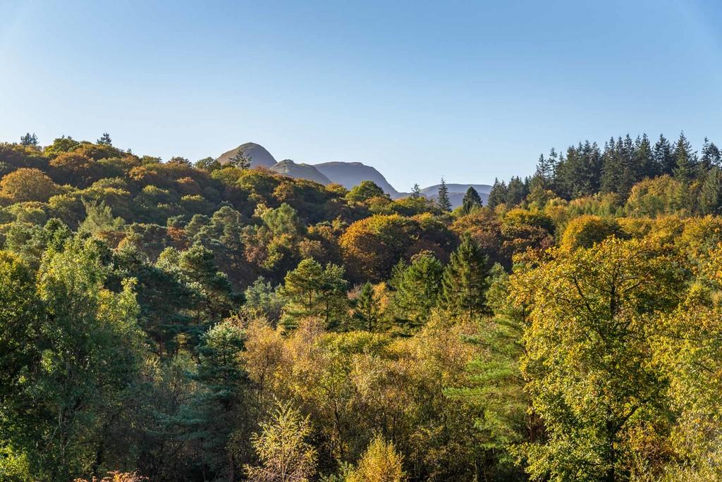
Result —
[[249, 165], [0, 144], [0, 481], [722, 480], [712, 142], [453, 210]]

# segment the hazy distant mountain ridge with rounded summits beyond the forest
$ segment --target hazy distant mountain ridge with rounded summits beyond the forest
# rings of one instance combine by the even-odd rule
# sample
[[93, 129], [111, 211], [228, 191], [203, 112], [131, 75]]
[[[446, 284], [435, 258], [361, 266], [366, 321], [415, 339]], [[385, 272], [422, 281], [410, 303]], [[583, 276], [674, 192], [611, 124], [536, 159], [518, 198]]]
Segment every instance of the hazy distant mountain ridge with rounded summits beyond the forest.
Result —
[[[337, 183], [343, 185], [344, 188], [350, 189], [355, 185], [359, 185], [362, 181], [370, 180], [378, 187], [383, 189], [391, 198], [403, 198], [409, 196], [409, 193], [400, 193], [398, 190], [388, 183], [383, 174], [378, 172], [375, 167], [367, 166], [362, 162], [321, 162], [320, 164], [305, 164], [303, 162], [294, 162], [291, 159], [284, 159], [277, 162], [270, 152], [255, 142], [247, 142], [241, 144], [235, 149], [221, 154], [217, 161], [221, 164], [229, 162], [230, 159], [241, 152], [244, 157], [251, 159], [251, 167], [266, 167], [271, 171], [291, 178], [300, 178], [312, 180], [316, 183], [327, 185]], [[491, 186], [487, 184], [447, 184], [449, 190], [449, 200], [451, 205], [461, 206], [461, 200], [469, 187], [473, 187], [481, 196], [482, 201], [486, 203], [489, 197]], [[421, 190], [422, 195], [430, 199], [435, 199], [438, 195], [439, 185], [431, 185]]]

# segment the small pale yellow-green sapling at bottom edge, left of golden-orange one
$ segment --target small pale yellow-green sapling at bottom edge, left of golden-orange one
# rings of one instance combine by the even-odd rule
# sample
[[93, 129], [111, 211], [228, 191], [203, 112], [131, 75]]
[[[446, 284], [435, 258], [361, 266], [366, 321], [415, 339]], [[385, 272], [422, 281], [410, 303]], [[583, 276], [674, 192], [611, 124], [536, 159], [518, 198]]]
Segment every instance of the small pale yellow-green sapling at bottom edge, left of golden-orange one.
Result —
[[295, 408], [279, 404], [261, 433], [251, 436], [261, 465], [245, 465], [252, 482], [308, 482], [316, 473], [316, 450], [306, 442], [311, 426]]

